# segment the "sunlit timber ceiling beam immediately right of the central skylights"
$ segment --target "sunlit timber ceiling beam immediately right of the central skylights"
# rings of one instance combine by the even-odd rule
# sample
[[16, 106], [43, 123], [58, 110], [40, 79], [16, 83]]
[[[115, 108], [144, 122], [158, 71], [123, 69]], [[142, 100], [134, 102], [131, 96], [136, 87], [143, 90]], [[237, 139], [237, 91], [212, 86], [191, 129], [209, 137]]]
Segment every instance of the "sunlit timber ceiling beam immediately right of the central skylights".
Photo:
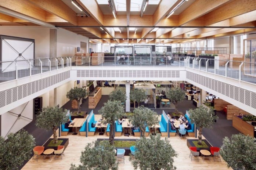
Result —
[[162, 19], [168, 15], [182, 0], [162, 0], [158, 4], [153, 15], [153, 26], [158, 24]]

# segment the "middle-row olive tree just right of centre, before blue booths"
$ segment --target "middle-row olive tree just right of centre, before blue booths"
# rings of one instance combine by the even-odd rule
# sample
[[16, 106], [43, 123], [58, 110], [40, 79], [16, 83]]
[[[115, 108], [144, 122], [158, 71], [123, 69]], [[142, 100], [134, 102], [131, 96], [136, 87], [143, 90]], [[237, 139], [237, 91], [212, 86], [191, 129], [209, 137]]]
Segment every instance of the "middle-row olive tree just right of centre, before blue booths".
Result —
[[139, 106], [133, 111], [133, 115], [129, 117], [130, 123], [134, 127], [140, 127], [142, 136], [145, 136], [146, 127], [152, 127], [158, 124], [158, 115], [156, 112], [144, 106]]

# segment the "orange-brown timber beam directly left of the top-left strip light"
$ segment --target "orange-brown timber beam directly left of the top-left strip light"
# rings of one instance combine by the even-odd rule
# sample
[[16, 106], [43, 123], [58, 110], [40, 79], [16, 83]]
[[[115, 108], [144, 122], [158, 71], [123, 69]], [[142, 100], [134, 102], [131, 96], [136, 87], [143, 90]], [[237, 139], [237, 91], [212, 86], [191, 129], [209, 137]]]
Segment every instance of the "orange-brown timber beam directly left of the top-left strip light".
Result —
[[62, 0], [28, 0], [37, 7], [42, 8], [58, 17], [77, 25], [76, 12], [67, 6]]

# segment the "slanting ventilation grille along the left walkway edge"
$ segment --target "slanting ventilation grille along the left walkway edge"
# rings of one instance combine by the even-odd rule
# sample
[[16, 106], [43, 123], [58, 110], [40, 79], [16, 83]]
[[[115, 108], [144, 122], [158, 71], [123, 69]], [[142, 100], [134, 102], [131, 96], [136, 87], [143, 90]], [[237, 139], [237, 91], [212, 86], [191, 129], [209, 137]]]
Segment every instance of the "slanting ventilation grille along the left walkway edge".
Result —
[[44, 88], [50, 87], [63, 80], [69, 79], [70, 71], [59, 73], [44, 79], [36, 80], [27, 84], [23, 84], [18, 87], [10, 88], [0, 92], [0, 108], [11, 104], [17, 100], [21, 100], [37, 91], [43, 90]]

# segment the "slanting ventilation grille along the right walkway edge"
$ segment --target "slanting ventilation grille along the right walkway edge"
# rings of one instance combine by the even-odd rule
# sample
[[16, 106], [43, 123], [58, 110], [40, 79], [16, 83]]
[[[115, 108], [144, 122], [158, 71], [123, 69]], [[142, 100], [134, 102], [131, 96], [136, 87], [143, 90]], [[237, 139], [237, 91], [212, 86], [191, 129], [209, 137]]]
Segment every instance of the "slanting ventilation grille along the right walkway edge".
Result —
[[187, 79], [256, 109], [256, 93], [187, 71]]

